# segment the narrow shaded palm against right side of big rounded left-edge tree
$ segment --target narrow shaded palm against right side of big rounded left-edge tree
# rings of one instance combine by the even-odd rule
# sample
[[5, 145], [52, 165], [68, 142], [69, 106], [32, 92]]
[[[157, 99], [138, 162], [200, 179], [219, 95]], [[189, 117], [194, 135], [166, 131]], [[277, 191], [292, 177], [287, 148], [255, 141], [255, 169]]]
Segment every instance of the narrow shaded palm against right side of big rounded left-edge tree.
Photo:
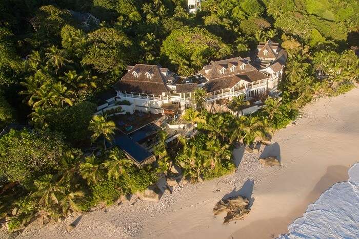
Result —
[[61, 157], [57, 169], [58, 174], [61, 176], [61, 179], [58, 181], [59, 183], [65, 183], [73, 180], [77, 170], [76, 161], [77, 159], [71, 150], [66, 151], [65, 154]]

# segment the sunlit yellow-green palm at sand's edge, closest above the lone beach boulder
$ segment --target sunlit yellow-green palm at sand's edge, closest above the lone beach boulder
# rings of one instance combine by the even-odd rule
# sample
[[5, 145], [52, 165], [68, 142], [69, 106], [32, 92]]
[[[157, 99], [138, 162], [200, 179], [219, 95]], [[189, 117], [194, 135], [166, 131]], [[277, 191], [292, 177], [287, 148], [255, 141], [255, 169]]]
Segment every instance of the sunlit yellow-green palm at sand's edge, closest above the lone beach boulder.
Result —
[[231, 151], [228, 149], [229, 145], [222, 146], [219, 140], [211, 140], [206, 143], [206, 146], [207, 150], [203, 150], [202, 154], [210, 162], [211, 169], [214, 168], [215, 172], [218, 172], [218, 165], [222, 159], [229, 160], [231, 158]]

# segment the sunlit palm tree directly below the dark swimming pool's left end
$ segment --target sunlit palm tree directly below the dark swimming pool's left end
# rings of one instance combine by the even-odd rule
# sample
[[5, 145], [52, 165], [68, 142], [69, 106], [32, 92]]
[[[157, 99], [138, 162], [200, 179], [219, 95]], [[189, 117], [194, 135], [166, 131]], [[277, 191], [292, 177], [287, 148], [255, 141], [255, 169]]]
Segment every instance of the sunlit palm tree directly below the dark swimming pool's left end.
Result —
[[107, 168], [107, 176], [114, 177], [116, 180], [121, 175], [126, 175], [126, 168], [132, 165], [132, 160], [126, 158], [122, 150], [114, 147], [109, 151], [109, 159], [104, 162]]

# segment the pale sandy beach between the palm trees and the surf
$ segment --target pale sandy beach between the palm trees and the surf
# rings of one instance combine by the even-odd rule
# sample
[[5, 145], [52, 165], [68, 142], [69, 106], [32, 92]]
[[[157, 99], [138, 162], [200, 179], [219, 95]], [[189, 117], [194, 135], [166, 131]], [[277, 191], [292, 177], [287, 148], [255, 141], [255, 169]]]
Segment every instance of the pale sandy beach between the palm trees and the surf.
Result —
[[[303, 215], [336, 182], [347, 181], [348, 168], [359, 161], [359, 89], [307, 105], [296, 126], [277, 132], [272, 154], [282, 167], [265, 168], [259, 155], [234, 155], [236, 173], [164, 194], [159, 203], [138, 202], [87, 213], [71, 232], [68, 218], [40, 229], [28, 226], [24, 238], [270, 238], [288, 233], [288, 225]], [[265, 150], [268, 153], [268, 149]], [[254, 187], [253, 187], [254, 183]], [[220, 187], [221, 192], [213, 192]], [[225, 194], [254, 197], [243, 221], [222, 225], [212, 208]], [[253, 190], [252, 195], [251, 191]], [[4, 236], [4, 234], [3, 234]]]

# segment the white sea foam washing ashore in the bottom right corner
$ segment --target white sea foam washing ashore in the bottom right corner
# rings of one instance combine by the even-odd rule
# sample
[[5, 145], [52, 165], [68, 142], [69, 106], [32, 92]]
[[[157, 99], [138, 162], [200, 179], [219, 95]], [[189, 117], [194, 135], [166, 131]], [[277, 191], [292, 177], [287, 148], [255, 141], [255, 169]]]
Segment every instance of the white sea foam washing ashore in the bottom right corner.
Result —
[[359, 238], [359, 163], [348, 175], [348, 182], [323, 192], [279, 238]]

